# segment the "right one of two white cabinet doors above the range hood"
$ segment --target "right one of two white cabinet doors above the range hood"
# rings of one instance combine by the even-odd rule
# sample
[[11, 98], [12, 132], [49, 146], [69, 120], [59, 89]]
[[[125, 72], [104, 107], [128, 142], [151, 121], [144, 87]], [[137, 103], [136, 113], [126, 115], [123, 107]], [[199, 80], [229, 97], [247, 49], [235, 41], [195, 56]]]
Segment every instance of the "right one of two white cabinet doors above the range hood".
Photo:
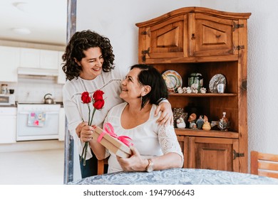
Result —
[[40, 50], [40, 68], [58, 70], [58, 51]]

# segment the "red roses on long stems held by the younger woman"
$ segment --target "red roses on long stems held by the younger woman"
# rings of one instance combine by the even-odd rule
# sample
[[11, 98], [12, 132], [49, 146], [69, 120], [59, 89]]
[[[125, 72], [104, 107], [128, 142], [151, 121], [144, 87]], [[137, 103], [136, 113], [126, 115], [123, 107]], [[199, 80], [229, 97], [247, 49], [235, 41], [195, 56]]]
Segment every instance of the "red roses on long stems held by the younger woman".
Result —
[[[91, 95], [87, 91], [83, 92], [81, 95], [82, 102], [88, 105], [88, 109], [89, 109], [88, 125], [89, 126], [92, 125], [93, 115], [95, 114], [96, 110], [102, 109], [104, 106], [103, 94], [104, 92], [102, 90], [96, 90], [93, 93], [93, 97], [91, 97]], [[91, 107], [90, 107], [91, 102], [93, 102], [92, 114], [91, 114]], [[85, 142], [85, 145], [82, 150], [81, 160], [83, 159], [83, 166], [86, 166], [87, 149], [88, 149], [88, 141]]]

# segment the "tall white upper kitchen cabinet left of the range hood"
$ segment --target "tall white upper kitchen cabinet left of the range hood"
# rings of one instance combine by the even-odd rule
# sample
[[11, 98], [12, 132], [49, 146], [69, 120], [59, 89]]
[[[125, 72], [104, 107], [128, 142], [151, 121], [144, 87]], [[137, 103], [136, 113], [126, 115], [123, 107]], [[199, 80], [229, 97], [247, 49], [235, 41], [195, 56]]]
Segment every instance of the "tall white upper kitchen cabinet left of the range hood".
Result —
[[19, 67], [19, 48], [0, 46], [0, 82], [17, 82]]

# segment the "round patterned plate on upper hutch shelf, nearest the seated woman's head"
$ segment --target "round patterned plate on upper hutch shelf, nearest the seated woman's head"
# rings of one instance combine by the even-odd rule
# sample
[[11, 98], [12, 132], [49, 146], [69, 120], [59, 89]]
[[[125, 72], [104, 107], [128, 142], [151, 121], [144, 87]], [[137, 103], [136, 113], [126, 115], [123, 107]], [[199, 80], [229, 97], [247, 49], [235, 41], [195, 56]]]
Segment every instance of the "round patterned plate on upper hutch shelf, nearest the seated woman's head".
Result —
[[175, 70], [167, 70], [163, 72], [163, 79], [165, 80], [168, 92], [177, 92], [178, 87], [182, 87], [182, 77]]

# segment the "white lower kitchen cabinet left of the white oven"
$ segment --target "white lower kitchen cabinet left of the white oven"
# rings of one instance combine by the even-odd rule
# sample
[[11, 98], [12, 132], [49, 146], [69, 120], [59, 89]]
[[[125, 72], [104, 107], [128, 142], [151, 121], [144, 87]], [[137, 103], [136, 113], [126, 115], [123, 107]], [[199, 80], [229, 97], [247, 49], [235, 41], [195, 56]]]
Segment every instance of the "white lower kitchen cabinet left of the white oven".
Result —
[[16, 107], [0, 107], [0, 144], [16, 143]]

